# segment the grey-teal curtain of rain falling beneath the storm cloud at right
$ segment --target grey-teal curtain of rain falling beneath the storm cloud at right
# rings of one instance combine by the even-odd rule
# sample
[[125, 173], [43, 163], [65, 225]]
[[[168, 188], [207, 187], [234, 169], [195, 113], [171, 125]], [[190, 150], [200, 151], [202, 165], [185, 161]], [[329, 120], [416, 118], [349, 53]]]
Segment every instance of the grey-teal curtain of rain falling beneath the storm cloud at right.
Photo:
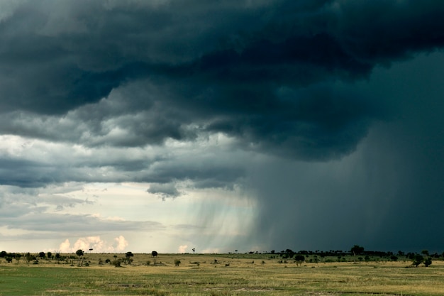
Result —
[[355, 84], [396, 106], [392, 120], [373, 124], [355, 153], [325, 163], [252, 164], [246, 175], [260, 200], [252, 239], [267, 234], [270, 248], [348, 250], [358, 243], [440, 252], [443, 65], [441, 53], [423, 55]]

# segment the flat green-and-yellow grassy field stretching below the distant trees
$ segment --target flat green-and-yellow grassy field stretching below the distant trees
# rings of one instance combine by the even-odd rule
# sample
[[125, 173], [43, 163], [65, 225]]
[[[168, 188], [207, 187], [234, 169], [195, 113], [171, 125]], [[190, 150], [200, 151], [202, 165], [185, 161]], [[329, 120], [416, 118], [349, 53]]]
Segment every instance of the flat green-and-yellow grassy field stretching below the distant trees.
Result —
[[86, 254], [82, 267], [77, 259], [1, 260], [0, 295], [444, 295], [443, 261], [406, 268], [410, 261], [296, 265], [270, 254], [134, 254], [131, 265], [99, 265], [114, 256], [124, 254]]

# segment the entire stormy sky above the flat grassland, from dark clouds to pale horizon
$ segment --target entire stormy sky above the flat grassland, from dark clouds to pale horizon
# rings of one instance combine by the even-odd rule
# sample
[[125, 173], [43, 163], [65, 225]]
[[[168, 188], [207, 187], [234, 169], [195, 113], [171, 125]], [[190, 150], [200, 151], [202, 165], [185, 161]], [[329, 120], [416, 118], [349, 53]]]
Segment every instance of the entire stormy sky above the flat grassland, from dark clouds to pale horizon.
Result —
[[0, 0], [0, 249], [443, 252], [443, 15]]

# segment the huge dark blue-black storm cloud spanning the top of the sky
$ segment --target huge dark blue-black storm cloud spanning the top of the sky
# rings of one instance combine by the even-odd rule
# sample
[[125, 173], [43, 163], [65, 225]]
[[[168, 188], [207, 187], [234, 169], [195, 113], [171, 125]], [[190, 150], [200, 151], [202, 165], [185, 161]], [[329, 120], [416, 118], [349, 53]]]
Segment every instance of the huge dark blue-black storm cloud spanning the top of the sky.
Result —
[[111, 122], [123, 138], [106, 137], [111, 114], [87, 111], [96, 145], [221, 131], [244, 147], [337, 158], [384, 114], [332, 83], [440, 48], [443, 12], [438, 1], [26, 2], [0, 24], [0, 104], [64, 114], [137, 81], [156, 96], [125, 97]]

